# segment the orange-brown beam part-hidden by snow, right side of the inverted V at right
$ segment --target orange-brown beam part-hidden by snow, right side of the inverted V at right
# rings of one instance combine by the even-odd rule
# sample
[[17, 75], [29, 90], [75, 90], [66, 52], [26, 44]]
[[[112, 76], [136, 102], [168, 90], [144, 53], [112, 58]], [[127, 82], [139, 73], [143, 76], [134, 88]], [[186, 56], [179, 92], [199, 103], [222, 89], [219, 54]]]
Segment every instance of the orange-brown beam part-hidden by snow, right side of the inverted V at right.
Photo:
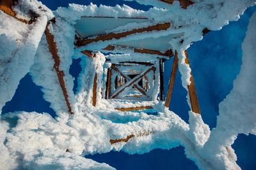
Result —
[[[187, 50], [185, 50], [184, 53], [186, 55], [185, 62], [186, 62], [186, 64], [189, 64]], [[190, 67], [190, 65], [189, 65], [189, 67]], [[198, 98], [197, 98], [197, 95], [196, 95], [195, 82], [194, 82], [192, 72], [190, 74], [191, 74], [191, 77], [190, 77], [191, 83], [190, 83], [190, 85], [188, 85], [188, 92], [189, 92], [189, 99], [190, 99], [191, 109], [194, 113], [201, 114], [200, 106], [199, 106], [199, 103], [198, 103]]]

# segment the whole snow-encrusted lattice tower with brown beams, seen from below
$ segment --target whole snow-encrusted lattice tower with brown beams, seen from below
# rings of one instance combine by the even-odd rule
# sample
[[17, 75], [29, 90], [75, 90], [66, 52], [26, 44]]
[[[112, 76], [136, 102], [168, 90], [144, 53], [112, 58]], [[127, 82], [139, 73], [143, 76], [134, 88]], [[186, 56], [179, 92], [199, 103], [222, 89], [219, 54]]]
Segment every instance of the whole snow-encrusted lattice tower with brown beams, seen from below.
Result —
[[[256, 13], [242, 45], [241, 71], [212, 131], [196, 104], [186, 50], [256, 1], [136, 1], [154, 8], [91, 3], [51, 11], [36, 0], [0, 2], [0, 110], [29, 73], [58, 116], [1, 115], [0, 169], [115, 169], [84, 155], [179, 145], [199, 169], [241, 169], [231, 145], [237, 134], [256, 135]], [[161, 69], [170, 57], [188, 91], [189, 124], [162, 99]], [[81, 59], [82, 67], [76, 93], [72, 59]]]

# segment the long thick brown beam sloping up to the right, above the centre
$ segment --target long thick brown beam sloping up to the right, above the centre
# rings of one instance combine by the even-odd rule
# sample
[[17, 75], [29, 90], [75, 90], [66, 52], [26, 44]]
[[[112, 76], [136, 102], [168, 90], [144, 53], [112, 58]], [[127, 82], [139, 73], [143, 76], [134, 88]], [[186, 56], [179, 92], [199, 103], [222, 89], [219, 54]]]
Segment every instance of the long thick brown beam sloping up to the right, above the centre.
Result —
[[164, 23], [164, 24], [152, 25], [152, 26], [145, 27], [145, 28], [133, 29], [131, 31], [126, 31], [126, 32], [105, 34], [102, 36], [97, 36], [96, 38], [82, 39], [82, 38], [76, 37], [75, 45], [76, 46], [85, 46], [85, 45], [88, 45], [93, 42], [108, 41], [108, 40], [111, 40], [114, 38], [120, 39], [120, 38], [129, 36], [129, 35], [132, 35], [132, 34], [141, 33], [141, 32], [145, 32], [145, 31], [162, 31], [162, 30], [166, 30], [166, 29], [170, 28], [170, 26], [171, 26], [171, 24], [168, 22], [168, 23]]

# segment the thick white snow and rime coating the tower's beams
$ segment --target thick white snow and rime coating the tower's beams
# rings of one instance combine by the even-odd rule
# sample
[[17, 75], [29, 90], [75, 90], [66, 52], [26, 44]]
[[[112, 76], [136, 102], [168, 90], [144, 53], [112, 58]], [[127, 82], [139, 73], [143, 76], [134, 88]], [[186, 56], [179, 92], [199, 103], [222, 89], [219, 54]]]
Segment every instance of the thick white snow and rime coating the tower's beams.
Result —
[[[191, 69], [185, 63], [184, 50], [193, 41], [202, 39], [202, 30], [208, 27], [218, 30], [228, 24], [228, 20], [237, 20], [243, 11], [255, 1], [195, 1], [187, 10], [180, 8], [179, 2], [172, 5], [160, 1], [138, 0], [142, 4], [154, 4], [148, 11], [134, 10], [129, 6], [81, 6], [70, 4], [68, 8], [54, 11], [56, 23], [49, 25], [54, 35], [64, 73], [68, 99], [74, 115], [68, 114], [54, 60], [49, 52], [45, 38], [45, 27], [53, 15], [42, 3], [23, 0], [15, 7], [18, 17], [28, 19], [28, 9], [33, 9], [39, 17], [31, 25], [0, 11], [1, 69], [0, 69], [0, 108], [12, 99], [19, 80], [30, 73], [36, 85], [42, 87], [44, 99], [58, 117], [48, 113], [27, 113], [24, 111], [7, 113], [0, 118], [0, 169], [113, 169], [108, 164], [100, 164], [83, 156], [94, 153], [106, 153], [111, 150], [147, 153], [154, 148], [170, 149], [182, 145], [186, 155], [200, 169], [239, 169], [236, 154], [231, 148], [237, 134], [255, 134], [255, 26], [253, 15], [246, 39], [243, 43], [243, 66], [234, 81], [234, 89], [220, 103], [220, 116], [217, 126], [210, 131], [199, 114], [189, 111], [189, 124], [157, 101], [159, 79], [152, 89], [152, 101], [131, 101], [125, 99], [102, 99], [101, 89], [106, 88], [106, 69], [111, 63], [120, 61], [150, 61], [158, 68], [158, 55], [138, 54], [132, 48], [116, 47], [113, 54], [104, 55], [101, 50], [108, 45], [148, 38], [160, 38], [179, 34], [170, 39], [170, 48], [179, 55], [179, 71], [182, 85], [187, 89], [190, 83]], [[43, 6], [45, 10], [39, 10]], [[134, 28], [170, 22], [166, 31], [152, 31], [134, 34], [121, 39], [99, 41], [76, 48], [74, 38], [76, 21], [81, 17], [147, 17], [150, 22], [127, 23], [112, 31], [129, 31]], [[151, 21], [152, 20], [152, 21]], [[211, 22], [210, 22], [211, 21]], [[179, 27], [182, 25], [182, 27]], [[16, 29], [15, 29], [16, 27]], [[181, 43], [181, 40], [182, 43]], [[93, 57], [81, 53], [81, 50], [93, 50]], [[122, 52], [120, 54], [120, 52]], [[73, 80], [69, 67], [73, 58], [81, 58], [82, 71], [78, 78], [77, 92], [72, 92]], [[142, 71], [142, 69], [136, 69]], [[92, 106], [93, 80], [97, 74], [97, 104]], [[156, 74], [159, 74], [156, 69]], [[150, 89], [151, 90], [151, 89]], [[189, 103], [189, 99], [188, 99]], [[152, 106], [157, 115], [147, 115], [143, 111], [118, 111], [115, 108], [134, 106]], [[111, 139], [125, 139], [134, 136], [127, 143], [111, 145]]]

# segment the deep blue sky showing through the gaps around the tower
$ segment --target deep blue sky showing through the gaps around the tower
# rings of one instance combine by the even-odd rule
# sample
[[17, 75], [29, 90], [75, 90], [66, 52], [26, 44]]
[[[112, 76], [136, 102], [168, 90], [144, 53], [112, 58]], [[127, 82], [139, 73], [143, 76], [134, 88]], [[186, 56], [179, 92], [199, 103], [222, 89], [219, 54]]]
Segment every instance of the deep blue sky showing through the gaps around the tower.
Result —
[[[147, 10], [150, 6], [125, 1], [92, 1], [95, 4], [127, 4], [132, 8]], [[68, 3], [89, 4], [90, 1], [42, 1], [51, 10], [58, 6], [67, 6]], [[189, 60], [195, 79], [196, 92], [202, 111], [204, 122], [211, 129], [216, 126], [218, 104], [232, 90], [233, 80], [239, 73], [241, 66], [241, 43], [243, 42], [248, 20], [256, 11], [256, 7], [246, 10], [238, 22], [230, 22], [221, 31], [213, 31], [207, 34], [202, 41], [193, 43], [188, 49]], [[164, 85], [168, 86], [172, 60], [166, 61], [164, 70]], [[74, 66], [79, 66], [79, 60], [74, 60]], [[72, 75], [77, 75], [79, 70], [70, 69]], [[166, 90], [165, 90], [166, 91]], [[170, 109], [188, 122], [188, 104], [186, 103], [186, 91], [182, 88], [180, 74], [177, 74]], [[40, 87], [36, 86], [27, 74], [16, 90], [12, 101], [6, 103], [3, 113], [9, 111], [37, 111], [47, 112], [55, 116], [42, 98]], [[238, 164], [242, 169], [254, 169], [256, 153], [255, 136], [239, 135], [234, 143], [238, 157]], [[198, 169], [194, 163], [186, 159], [184, 148], [179, 146], [172, 150], [153, 150], [144, 155], [128, 155], [124, 152], [111, 152], [105, 154], [89, 155], [88, 157], [106, 162], [117, 169]]]

